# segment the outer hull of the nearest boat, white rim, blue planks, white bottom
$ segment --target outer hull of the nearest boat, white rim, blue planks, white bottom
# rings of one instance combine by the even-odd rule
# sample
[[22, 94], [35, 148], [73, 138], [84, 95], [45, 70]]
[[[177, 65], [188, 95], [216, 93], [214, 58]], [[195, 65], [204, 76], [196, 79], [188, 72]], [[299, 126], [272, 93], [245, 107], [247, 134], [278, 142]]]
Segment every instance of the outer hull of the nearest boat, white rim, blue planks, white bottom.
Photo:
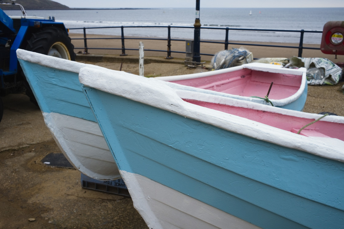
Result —
[[343, 136], [332, 146], [190, 104], [154, 79], [91, 68], [79, 79], [149, 227], [342, 227]]

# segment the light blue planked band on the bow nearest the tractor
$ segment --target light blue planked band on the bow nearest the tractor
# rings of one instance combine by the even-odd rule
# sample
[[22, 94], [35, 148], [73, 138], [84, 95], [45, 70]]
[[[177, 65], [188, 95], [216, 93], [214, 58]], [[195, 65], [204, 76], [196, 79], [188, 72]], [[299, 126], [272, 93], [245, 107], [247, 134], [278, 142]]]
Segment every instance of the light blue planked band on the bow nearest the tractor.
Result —
[[59, 113], [96, 122], [82, 93], [78, 73], [19, 59], [42, 112]]

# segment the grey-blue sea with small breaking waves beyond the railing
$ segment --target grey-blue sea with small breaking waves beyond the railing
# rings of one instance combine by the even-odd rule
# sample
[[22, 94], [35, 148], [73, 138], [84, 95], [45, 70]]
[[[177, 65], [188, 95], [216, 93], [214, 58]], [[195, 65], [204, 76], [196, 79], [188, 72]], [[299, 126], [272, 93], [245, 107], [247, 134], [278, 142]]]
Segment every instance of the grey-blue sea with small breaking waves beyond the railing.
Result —
[[[272, 30], [322, 31], [328, 21], [343, 21], [344, 8], [201, 8], [201, 40], [224, 41], [225, 30], [211, 28], [249, 28]], [[252, 11], [252, 15], [249, 12]], [[5, 11], [20, 15], [18, 11]], [[125, 36], [167, 38], [167, 28], [155, 26], [190, 26], [195, 22], [194, 8], [169, 9], [94, 9], [94, 10], [28, 10], [29, 16], [54, 16], [67, 28], [125, 27]], [[83, 30], [70, 30], [82, 33]], [[88, 34], [121, 35], [120, 28], [87, 29]], [[193, 28], [171, 28], [172, 39], [193, 39]], [[229, 30], [229, 41], [299, 43], [300, 33], [278, 31]], [[303, 43], [320, 44], [321, 33], [305, 33]]]

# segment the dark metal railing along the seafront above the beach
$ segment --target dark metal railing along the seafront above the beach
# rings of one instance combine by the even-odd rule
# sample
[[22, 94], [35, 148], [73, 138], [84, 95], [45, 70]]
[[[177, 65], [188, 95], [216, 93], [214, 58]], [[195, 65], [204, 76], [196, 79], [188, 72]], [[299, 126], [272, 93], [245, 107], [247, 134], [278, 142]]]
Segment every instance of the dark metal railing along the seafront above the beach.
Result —
[[[97, 37], [97, 38], [87, 38], [86, 36], [86, 29], [104, 29], [104, 28], [120, 28], [121, 29], [121, 37]], [[125, 37], [124, 36], [124, 28], [167, 28], [168, 29], [168, 36], [167, 38], [132, 38], [132, 37]], [[187, 41], [186, 39], [172, 39], [171, 38], [171, 28], [190, 28], [194, 29], [192, 26], [109, 26], [109, 27], [82, 27], [82, 28], [69, 28], [69, 30], [83, 30], [84, 38], [72, 38], [74, 40], [83, 39], [84, 40], [84, 47], [75, 47], [75, 49], [84, 49], [84, 54], [88, 53], [88, 49], [107, 49], [107, 50], [121, 50], [121, 56], [126, 56], [126, 50], [139, 50], [139, 49], [132, 49], [132, 48], [125, 48], [125, 40], [126, 39], [146, 39], [146, 40], [162, 40], [167, 41], [167, 56], [166, 59], [173, 58], [171, 53], [186, 53], [185, 51], [172, 51], [171, 50], [171, 41]], [[201, 43], [215, 43], [215, 44], [224, 44], [224, 49], [228, 49], [228, 45], [248, 45], [248, 46], [262, 46], [262, 47], [277, 47], [277, 48], [295, 48], [298, 49], [298, 57], [302, 57], [303, 49], [315, 49], [320, 50], [319, 47], [304, 47], [303, 46], [303, 37], [304, 33], [322, 33], [322, 31], [312, 31], [312, 30], [271, 30], [271, 29], [249, 29], [249, 28], [219, 28], [219, 27], [201, 27], [202, 30], [225, 30], [226, 35], [224, 42], [221, 41], [200, 41]], [[300, 42], [299, 46], [284, 46], [284, 45], [268, 45], [268, 44], [254, 44], [254, 43], [233, 43], [228, 41], [229, 31], [264, 31], [264, 32], [291, 32], [291, 33], [300, 33]], [[87, 47], [87, 40], [93, 39], [121, 39], [122, 47], [121, 48], [90, 48]], [[154, 49], [145, 49], [145, 51], [157, 51], [157, 52], [166, 52], [166, 50], [154, 50]], [[207, 54], [207, 53], [200, 53], [200, 55], [204, 56], [213, 56], [214, 54]]]

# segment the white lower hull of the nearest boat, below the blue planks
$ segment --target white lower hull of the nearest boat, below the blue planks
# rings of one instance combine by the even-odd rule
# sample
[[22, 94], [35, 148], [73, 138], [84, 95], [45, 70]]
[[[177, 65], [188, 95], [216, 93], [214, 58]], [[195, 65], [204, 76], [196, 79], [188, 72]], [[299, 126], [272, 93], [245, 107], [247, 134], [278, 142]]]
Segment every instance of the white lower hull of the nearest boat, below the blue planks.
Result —
[[130, 180], [133, 204], [150, 228], [259, 228], [146, 176], [126, 171], [121, 175]]

